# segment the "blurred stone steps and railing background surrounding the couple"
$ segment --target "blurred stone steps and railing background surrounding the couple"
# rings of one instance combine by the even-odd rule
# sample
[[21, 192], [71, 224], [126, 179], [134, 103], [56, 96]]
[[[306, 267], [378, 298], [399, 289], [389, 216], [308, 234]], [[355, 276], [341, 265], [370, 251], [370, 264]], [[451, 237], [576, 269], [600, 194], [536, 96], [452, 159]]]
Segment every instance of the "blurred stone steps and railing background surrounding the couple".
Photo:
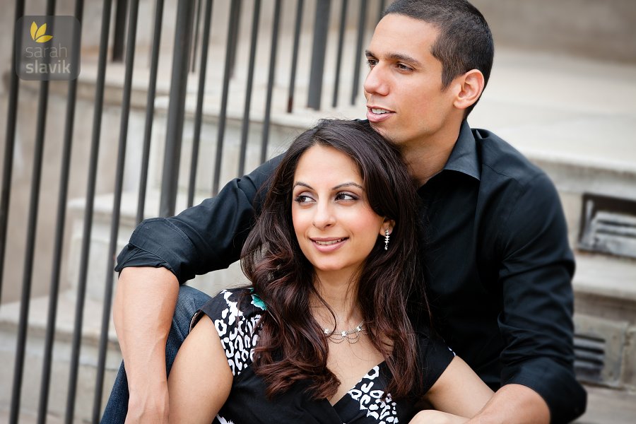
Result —
[[[3, 0], [0, 422], [98, 422], [121, 355], [114, 256], [284, 151], [365, 117], [382, 0]], [[555, 182], [577, 257], [580, 423], [636, 418], [636, 2], [474, 0], [495, 37], [469, 123]], [[81, 21], [75, 81], [14, 71], [20, 16]], [[20, 59], [18, 57], [18, 59]], [[191, 281], [213, 293], [237, 266]]]

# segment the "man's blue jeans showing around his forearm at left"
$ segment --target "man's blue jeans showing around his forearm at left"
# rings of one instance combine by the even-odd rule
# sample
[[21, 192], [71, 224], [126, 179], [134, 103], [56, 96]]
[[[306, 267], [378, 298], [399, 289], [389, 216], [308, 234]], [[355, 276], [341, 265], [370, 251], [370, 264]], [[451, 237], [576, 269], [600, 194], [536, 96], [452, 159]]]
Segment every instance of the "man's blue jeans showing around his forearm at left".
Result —
[[[177, 351], [188, 335], [192, 315], [209, 299], [210, 296], [196, 290], [196, 288], [187, 285], [179, 287], [179, 298], [177, 299], [175, 314], [172, 316], [170, 334], [168, 334], [165, 344], [165, 367], [168, 374], [170, 374], [170, 368], [175, 361]], [[102, 424], [124, 423], [126, 413], [128, 413], [128, 396], [128, 380], [126, 379], [126, 370], [122, 362], [102, 416]]]

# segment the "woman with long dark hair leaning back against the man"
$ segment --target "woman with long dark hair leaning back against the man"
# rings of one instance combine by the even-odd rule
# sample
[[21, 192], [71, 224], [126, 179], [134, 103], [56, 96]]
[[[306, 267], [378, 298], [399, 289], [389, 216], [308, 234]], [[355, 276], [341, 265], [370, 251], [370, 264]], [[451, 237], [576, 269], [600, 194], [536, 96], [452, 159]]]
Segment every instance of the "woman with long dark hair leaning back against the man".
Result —
[[[477, 413], [492, 391], [428, 331], [418, 198], [399, 152], [366, 122], [322, 121], [293, 142], [270, 187], [242, 253], [252, 285], [193, 318], [170, 372], [170, 420]], [[418, 413], [419, 401], [446, 413]]]

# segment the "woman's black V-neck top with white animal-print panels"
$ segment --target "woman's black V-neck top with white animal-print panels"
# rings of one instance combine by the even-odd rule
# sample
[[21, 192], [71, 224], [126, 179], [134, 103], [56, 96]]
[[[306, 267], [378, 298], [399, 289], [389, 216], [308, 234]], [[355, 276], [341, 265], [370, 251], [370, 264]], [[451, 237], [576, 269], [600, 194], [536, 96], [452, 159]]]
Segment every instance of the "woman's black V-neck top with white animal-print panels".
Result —
[[[247, 289], [233, 289], [218, 293], [192, 318], [191, 328], [201, 313], [212, 319], [234, 375], [230, 396], [214, 424], [397, 424], [408, 423], [415, 415], [414, 398], [394, 401], [388, 394], [382, 399], [390, 375], [385, 363], [373, 367], [333, 406], [327, 399], [312, 399], [307, 384], [302, 382], [267, 399], [266, 384], [251, 367], [259, 340], [255, 330], [264, 312], [265, 305], [257, 295]], [[442, 375], [454, 353], [425, 331], [419, 332], [419, 353], [426, 391]]]

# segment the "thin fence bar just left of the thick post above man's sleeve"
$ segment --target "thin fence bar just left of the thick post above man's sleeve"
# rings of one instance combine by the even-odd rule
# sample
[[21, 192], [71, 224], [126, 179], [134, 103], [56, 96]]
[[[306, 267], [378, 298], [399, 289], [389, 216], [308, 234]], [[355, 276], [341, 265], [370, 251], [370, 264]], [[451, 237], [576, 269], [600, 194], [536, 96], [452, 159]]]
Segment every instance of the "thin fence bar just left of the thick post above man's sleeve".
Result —
[[155, 93], [157, 90], [157, 70], [159, 67], [159, 45], [161, 40], [161, 23], [163, 22], [163, 0], [155, 4], [155, 28], [153, 30], [153, 51], [151, 55], [151, 73], [148, 81], [148, 97], [146, 98], [146, 126], [143, 129], [143, 150], [141, 153], [141, 175], [139, 177], [139, 194], [137, 198], [137, 223], [143, 220], [143, 209], [146, 206], [146, 187], [148, 186], [148, 162], [150, 160], [153, 120], [155, 118]]

